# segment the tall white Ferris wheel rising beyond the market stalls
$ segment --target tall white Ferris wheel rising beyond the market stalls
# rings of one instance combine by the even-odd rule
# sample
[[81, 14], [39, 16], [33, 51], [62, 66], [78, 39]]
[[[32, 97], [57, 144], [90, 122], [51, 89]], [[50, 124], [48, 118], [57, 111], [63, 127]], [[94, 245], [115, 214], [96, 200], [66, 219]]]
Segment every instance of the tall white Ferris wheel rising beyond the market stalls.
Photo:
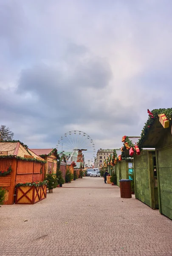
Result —
[[68, 161], [76, 162], [79, 149], [84, 154], [85, 163], [93, 164], [96, 148], [93, 139], [88, 134], [78, 130], [68, 131], [58, 140], [57, 151], [65, 152]]

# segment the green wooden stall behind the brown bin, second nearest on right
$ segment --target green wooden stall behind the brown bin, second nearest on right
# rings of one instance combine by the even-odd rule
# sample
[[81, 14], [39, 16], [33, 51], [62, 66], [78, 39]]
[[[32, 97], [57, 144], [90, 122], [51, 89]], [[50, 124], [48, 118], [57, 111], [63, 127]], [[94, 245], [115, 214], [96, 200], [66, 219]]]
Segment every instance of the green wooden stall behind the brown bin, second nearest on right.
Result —
[[[122, 155], [132, 157], [131, 159], [134, 160], [133, 189], [135, 191], [135, 198], [152, 208], [158, 208], [158, 185], [157, 177], [155, 176], [156, 172], [154, 172], [156, 168], [155, 148], [140, 151], [138, 141], [133, 143], [133, 137], [124, 137], [124, 146], [121, 148]], [[140, 139], [141, 137], [135, 138]], [[131, 164], [130, 162], [129, 165]]]

